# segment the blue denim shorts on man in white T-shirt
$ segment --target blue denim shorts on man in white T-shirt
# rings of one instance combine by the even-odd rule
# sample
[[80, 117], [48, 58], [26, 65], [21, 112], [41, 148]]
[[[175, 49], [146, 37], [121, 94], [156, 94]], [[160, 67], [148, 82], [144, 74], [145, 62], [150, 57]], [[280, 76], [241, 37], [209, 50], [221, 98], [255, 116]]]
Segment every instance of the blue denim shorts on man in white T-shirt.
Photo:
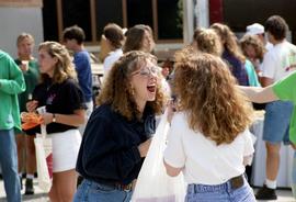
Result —
[[263, 141], [272, 144], [281, 142], [289, 144], [288, 130], [293, 108], [293, 103], [286, 101], [275, 101], [266, 104]]

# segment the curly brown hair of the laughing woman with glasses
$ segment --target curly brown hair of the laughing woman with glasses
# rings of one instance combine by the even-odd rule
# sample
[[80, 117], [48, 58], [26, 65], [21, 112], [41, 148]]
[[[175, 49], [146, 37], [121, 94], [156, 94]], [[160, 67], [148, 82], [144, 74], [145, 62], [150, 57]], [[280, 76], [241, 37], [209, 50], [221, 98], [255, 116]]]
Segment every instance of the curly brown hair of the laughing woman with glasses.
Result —
[[[96, 98], [96, 103], [111, 104], [111, 108], [127, 120], [141, 116], [133, 96], [129, 80], [130, 75], [140, 69], [147, 60], [156, 64], [157, 58], [149, 53], [132, 50], [123, 55], [110, 70], [103, 83], [102, 91]], [[148, 101], [146, 106], [160, 114], [164, 106], [166, 97], [160, 82], [157, 86], [156, 100]]]

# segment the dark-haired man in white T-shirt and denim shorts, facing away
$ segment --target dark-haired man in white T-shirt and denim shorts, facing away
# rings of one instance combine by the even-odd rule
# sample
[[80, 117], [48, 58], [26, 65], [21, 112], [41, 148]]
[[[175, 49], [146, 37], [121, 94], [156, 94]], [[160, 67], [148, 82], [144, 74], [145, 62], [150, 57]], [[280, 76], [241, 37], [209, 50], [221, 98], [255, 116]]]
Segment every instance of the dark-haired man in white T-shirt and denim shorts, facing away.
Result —
[[[273, 47], [266, 53], [262, 64], [263, 87], [281, 80], [295, 70], [296, 46], [286, 41], [288, 26], [285, 20], [273, 15], [265, 22], [265, 31]], [[258, 200], [275, 200], [276, 177], [280, 167], [281, 143], [289, 144], [288, 128], [293, 111], [292, 102], [275, 101], [265, 106], [263, 139], [266, 145], [266, 179], [255, 194]]]

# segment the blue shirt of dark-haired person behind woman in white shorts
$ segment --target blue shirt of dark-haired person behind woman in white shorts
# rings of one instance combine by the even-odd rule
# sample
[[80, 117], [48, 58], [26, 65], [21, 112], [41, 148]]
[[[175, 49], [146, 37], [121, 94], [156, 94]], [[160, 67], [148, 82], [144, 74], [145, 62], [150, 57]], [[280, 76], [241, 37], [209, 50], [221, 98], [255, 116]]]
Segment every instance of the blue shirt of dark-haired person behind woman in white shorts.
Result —
[[89, 53], [87, 50], [75, 53], [73, 63], [79, 86], [84, 94], [84, 100], [86, 102], [90, 102], [92, 100], [92, 76]]

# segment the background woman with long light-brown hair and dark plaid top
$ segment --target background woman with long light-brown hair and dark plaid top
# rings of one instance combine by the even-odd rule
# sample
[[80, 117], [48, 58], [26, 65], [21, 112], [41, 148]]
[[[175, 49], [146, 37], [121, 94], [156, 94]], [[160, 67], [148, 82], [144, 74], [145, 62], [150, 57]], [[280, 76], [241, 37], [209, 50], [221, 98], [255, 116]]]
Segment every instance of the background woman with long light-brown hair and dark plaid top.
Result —
[[234, 77], [237, 78], [238, 83], [241, 86], [249, 86], [248, 72], [244, 67], [246, 57], [240, 50], [235, 33], [229, 26], [221, 23], [214, 23], [210, 25], [210, 29], [218, 34], [223, 45], [221, 58], [227, 61], [227, 65]]

